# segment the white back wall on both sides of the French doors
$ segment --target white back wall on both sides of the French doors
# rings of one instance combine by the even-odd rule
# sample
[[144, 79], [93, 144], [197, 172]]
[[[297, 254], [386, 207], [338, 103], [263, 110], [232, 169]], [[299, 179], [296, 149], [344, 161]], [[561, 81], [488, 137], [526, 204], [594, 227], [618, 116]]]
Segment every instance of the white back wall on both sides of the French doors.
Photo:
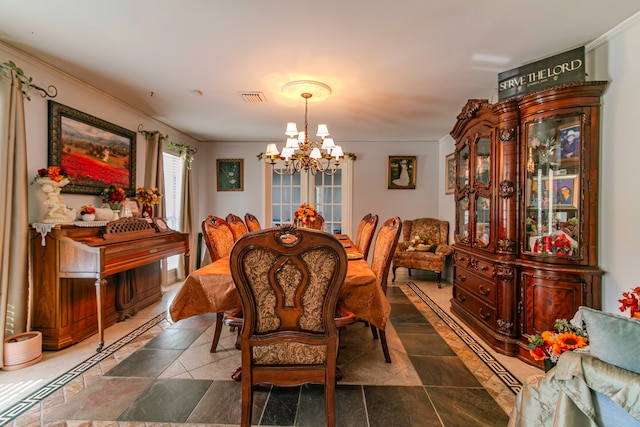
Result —
[[[453, 126], [453, 125], [452, 125]], [[357, 224], [367, 213], [377, 214], [380, 224], [394, 216], [401, 219], [438, 217], [439, 151], [437, 142], [410, 142], [386, 144], [378, 142], [342, 142], [342, 149], [357, 156], [353, 163], [353, 217]], [[198, 161], [205, 161], [200, 168], [200, 178], [206, 182], [201, 194], [205, 202], [199, 215], [225, 217], [233, 212], [244, 215], [251, 212], [264, 224], [264, 199], [262, 198], [262, 174], [264, 161], [257, 155], [265, 150], [263, 143], [215, 143], [202, 144]], [[416, 156], [417, 174], [415, 190], [387, 189], [387, 165], [389, 156]], [[245, 183], [243, 192], [218, 192], [215, 181], [215, 162], [218, 158], [244, 159]], [[443, 190], [444, 191], [444, 190]]]

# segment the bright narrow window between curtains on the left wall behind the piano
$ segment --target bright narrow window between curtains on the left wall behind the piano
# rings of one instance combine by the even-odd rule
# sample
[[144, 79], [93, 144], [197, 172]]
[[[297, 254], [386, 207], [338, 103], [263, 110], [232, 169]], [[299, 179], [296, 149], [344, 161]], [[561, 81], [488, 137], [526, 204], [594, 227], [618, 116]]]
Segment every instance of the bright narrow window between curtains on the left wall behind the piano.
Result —
[[[173, 153], [162, 153], [164, 164], [164, 205], [167, 225], [172, 230], [180, 230], [182, 214], [182, 176], [184, 161]], [[178, 267], [179, 256], [167, 258], [169, 270]]]

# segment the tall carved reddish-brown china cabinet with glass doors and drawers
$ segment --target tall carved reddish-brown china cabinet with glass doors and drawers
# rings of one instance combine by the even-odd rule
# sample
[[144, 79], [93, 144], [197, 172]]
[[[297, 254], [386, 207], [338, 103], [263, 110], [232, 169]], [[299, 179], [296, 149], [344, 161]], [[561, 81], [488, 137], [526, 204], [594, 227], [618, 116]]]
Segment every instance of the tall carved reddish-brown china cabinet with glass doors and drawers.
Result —
[[600, 97], [568, 83], [497, 104], [472, 99], [456, 140], [451, 309], [496, 351], [532, 363], [528, 337], [601, 306]]

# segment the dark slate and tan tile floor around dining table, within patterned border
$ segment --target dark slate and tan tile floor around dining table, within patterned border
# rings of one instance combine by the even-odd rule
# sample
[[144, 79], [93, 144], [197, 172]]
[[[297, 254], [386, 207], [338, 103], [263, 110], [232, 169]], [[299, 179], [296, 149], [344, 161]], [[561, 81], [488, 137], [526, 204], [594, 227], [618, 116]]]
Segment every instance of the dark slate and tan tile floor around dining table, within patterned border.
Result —
[[[338, 360], [344, 374], [336, 391], [338, 425], [506, 425], [513, 393], [405, 291], [394, 285], [388, 291], [391, 364], [368, 328], [349, 327], [349, 346]], [[209, 353], [214, 319], [162, 322], [154, 338], [127, 345], [119, 350], [124, 355], [101, 362], [12, 425], [237, 425], [240, 383], [230, 373], [240, 365], [239, 351], [224, 328], [218, 352]], [[258, 387], [253, 424], [321, 426], [323, 402], [321, 386]]]

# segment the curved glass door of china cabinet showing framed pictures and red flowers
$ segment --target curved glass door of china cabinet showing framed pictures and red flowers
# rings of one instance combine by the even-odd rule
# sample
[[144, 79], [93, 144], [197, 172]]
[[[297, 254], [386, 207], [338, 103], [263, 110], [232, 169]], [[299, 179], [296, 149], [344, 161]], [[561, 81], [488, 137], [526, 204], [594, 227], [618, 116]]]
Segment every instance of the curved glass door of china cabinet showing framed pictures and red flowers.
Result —
[[525, 132], [523, 250], [580, 257], [580, 116], [527, 123]]

